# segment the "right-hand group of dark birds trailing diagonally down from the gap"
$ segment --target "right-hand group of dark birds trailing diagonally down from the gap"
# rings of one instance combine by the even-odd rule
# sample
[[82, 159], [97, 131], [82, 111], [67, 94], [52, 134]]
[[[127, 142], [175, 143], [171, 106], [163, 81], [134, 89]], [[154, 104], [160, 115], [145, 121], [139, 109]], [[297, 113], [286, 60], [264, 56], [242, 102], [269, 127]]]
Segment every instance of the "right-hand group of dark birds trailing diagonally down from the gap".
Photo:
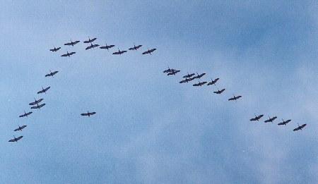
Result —
[[[172, 68], [169, 68], [168, 67], [168, 69], [167, 70], [164, 70], [163, 71], [163, 73], [167, 73], [167, 75], [176, 75], [177, 73], [179, 73], [180, 72], [180, 70], [175, 70], [175, 69], [172, 69]], [[187, 75], [184, 75], [183, 76], [183, 78], [184, 78], [184, 80], [181, 80], [179, 83], [184, 83], [184, 82], [190, 82], [190, 81], [192, 81], [192, 80], [194, 80], [194, 79], [198, 79], [199, 80], [199, 82], [198, 83], [194, 83], [193, 84], [193, 86], [203, 86], [203, 85], [205, 85], [207, 82], [206, 81], [204, 81], [204, 82], [200, 82], [200, 79], [204, 76], [204, 75], [206, 75], [206, 73], [201, 73], [200, 75], [199, 75], [199, 73], [192, 73], [192, 74], [189, 74], [189, 73], [187, 73]], [[216, 78], [216, 79], [212, 79], [211, 78], [211, 82], [208, 82], [208, 84], [207, 85], [216, 85], [216, 82], [218, 82], [218, 80], [219, 80], [220, 78]], [[215, 93], [215, 94], [221, 94], [221, 93], [223, 93], [225, 91], [225, 88], [223, 88], [222, 90], [219, 90], [218, 89], [218, 91], [214, 91], [213, 93]], [[229, 99], [228, 99], [228, 101], [232, 101], [232, 100], [237, 100], [237, 99], [240, 99], [242, 96], [237, 96], [237, 97], [235, 97], [235, 95], [233, 94], [233, 97], [230, 97]], [[255, 115], [255, 118], [251, 118], [249, 121], [259, 121], [260, 119], [261, 119], [261, 117], [263, 117], [264, 116], [264, 114], [261, 114], [261, 115], [259, 115], [259, 116], [257, 116], [256, 114], [254, 114]], [[264, 123], [273, 123], [273, 121], [275, 120], [277, 118], [277, 116], [274, 116], [274, 117], [270, 117], [269, 116], [269, 119], [267, 119], [266, 121], [264, 121]], [[283, 120], [283, 119], [282, 119]], [[286, 125], [287, 123], [289, 123], [291, 121], [291, 119], [289, 119], [289, 120], [286, 120], [286, 121], [284, 121], [283, 120], [283, 122], [281, 122], [281, 123], [278, 123], [278, 125]], [[303, 124], [303, 125], [299, 125], [298, 124], [298, 127], [297, 128], [295, 128], [295, 129], [293, 129], [294, 131], [297, 131], [297, 130], [302, 130], [302, 128], [304, 128], [305, 126], [306, 126], [307, 124]]]

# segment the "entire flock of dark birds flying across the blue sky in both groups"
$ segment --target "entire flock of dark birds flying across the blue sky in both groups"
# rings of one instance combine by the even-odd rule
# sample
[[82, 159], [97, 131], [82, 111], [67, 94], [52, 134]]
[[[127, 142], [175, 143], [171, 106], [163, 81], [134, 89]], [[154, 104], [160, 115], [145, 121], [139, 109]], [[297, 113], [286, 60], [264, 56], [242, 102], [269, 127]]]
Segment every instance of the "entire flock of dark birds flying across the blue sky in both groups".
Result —
[[[84, 41], [84, 43], [86, 43], [86, 44], [90, 44], [90, 46], [88, 46], [88, 47], [86, 47], [86, 50], [88, 50], [88, 49], [93, 49], [93, 48], [95, 48], [95, 47], [99, 47], [100, 45], [99, 44], [93, 44], [93, 42], [95, 41], [95, 39], [97, 39], [97, 38], [93, 38], [93, 39], [90, 39], [89, 37], [88, 37], [88, 40], [86, 40], [86, 41]], [[69, 42], [69, 43], [66, 43], [66, 44], [64, 44], [64, 45], [66, 45], [66, 46], [74, 46], [75, 44], [78, 44], [78, 42], [80, 42], [80, 41], [75, 41], [75, 42]], [[105, 45], [105, 46], [102, 46], [102, 47], [100, 47], [100, 49], [107, 49], [107, 51], [109, 51], [112, 47], [114, 47], [114, 45], [113, 44], [111, 44], [111, 45]], [[137, 50], [137, 49], [139, 49], [140, 47], [142, 47], [142, 45], [135, 45], [134, 44], [134, 47], [131, 47], [131, 48], [129, 48], [129, 50], [131, 50], [131, 51], [133, 51], [133, 50]], [[61, 47], [54, 47], [54, 49], [49, 49], [50, 51], [54, 51], [54, 52], [57, 52], [57, 51], [59, 51], [59, 49], [61, 49]], [[153, 51], [155, 51], [156, 49], [148, 49], [147, 51], [143, 51], [143, 53], [142, 54], [151, 54]], [[112, 54], [119, 54], [119, 55], [121, 55], [121, 54], [124, 54], [126, 51], [125, 50], [120, 50], [119, 48], [118, 48], [118, 51], [115, 51], [115, 52], [113, 52]], [[71, 56], [71, 55], [73, 55], [73, 54], [76, 54], [76, 52], [75, 51], [72, 51], [72, 52], [69, 52], [69, 51], [67, 51], [66, 50], [66, 54], [62, 54], [61, 56], [62, 57], [65, 57], [65, 56]], [[50, 76], [54, 76], [54, 75], [56, 75], [59, 71], [54, 71], [54, 72], [52, 72], [51, 70], [49, 70], [50, 71], [50, 73], [48, 73], [47, 75], [45, 75], [45, 77], [50, 77]], [[168, 67], [168, 69], [167, 70], [164, 70], [163, 71], [163, 73], [167, 73], [167, 75], [176, 75], [177, 73], [179, 73], [180, 72], [180, 70], [175, 70], [175, 69], [172, 69], [172, 68], [169, 68]], [[187, 73], [187, 75], [184, 75], [183, 76], [183, 80], [181, 80], [179, 83], [185, 83], [185, 82], [191, 82], [192, 80], [194, 80], [194, 79], [198, 79], [199, 80], [199, 82], [198, 83], [194, 83], [193, 84], [193, 86], [203, 86], [203, 85], [205, 85], [206, 83], [208, 83], [207, 85], [216, 85], [216, 82], [218, 82], [218, 80], [219, 80], [219, 78], [216, 78], [216, 79], [211, 79], [211, 82], [206, 82], [206, 81], [204, 81], [204, 82], [200, 82], [200, 79], [204, 76], [204, 75], [206, 75], [206, 73], [201, 73], [200, 75], [198, 74], [198, 73], [196, 73], [197, 75], [195, 75], [195, 73], [192, 73], [192, 74], [189, 74], [189, 73]], [[42, 90], [40, 90], [39, 92], [37, 92], [37, 94], [42, 94], [42, 93], [45, 93], [46, 94], [46, 92], [47, 92], [47, 90], [49, 90], [49, 88], [50, 87], [45, 87], [45, 88], [43, 88], [42, 87]], [[213, 93], [215, 93], [215, 94], [222, 94], [223, 92], [225, 91], [225, 89], [222, 89], [222, 90], [219, 90], [218, 89], [218, 91], [214, 91]], [[235, 95], [233, 94], [233, 97], [230, 97], [229, 99], [228, 99], [228, 101], [233, 101], [233, 100], [237, 100], [237, 99], [240, 99], [242, 96], [237, 96], [237, 97], [235, 97]], [[35, 101], [34, 102], [31, 102], [29, 105], [31, 106], [30, 107], [30, 109], [41, 109], [43, 106], [45, 106], [45, 104], [40, 104], [41, 102], [42, 102], [42, 98], [41, 99], [35, 99]], [[36, 105], [36, 106], [35, 106]], [[33, 114], [33, 112], [32, 111], [30, 111], [30, 112], [25, 112], [24, 111], [24, 114], [22, 114], [22, 115], [20, 115], [19, 117], [20, 118], [23, 118], [23, 117], [28, 117], [28, 116], [30, 116], [30, 114]], [[88, 116], [88, 117], [90, 117], [90, 116], [93, 116], [94, 114], [96, 114], [96, 112], [89, 112], [89, 111], [87, 111], [87, 113], [83, 113], [83, 114], [81, 114], [81, 116]], [[261, 119], [261, 117], [263, 117], [264, 115], [263, 114], [261, 114], [261, 115], [259, 115], [259, 116], [256, 116], [256, 114], [255, 114], [255, 118], [251, 118], [249, 121], [259, 121], [259, 119]], [[267, 119], [266, 121], [264, 121], [265, 123], [269, 123], [269, 122], [271, 122], [271, 123], [273, 123], [273, 121], [275, 120], [277, 118], [277, 116], [274, 116], [273, 118], [271, 118], [271, 117], [269, 117], [269, 119]], [[281, 123], [278, 123], [278, 125], [286, 125], [287, 123], [289, 123], [291, 120], [289, 119], [289, 120], [287, 120], [287, 121], [283, 121], [283, 122], [281, 122]], [[295, 128], [295, 129], [293, 129], [294, 131], [297, 131], [297, 130], [302, 130], [302, 128], [304, 128], [305, 127], [305, 125], [306, 124], [303, 124], [303, 125], [299, 125], [298, 124], [298, 128]], [[25, 128], [25, 127], [27, 127], [27, 125], [23, 125], [23, 126], [18, 126], [18, 128], [16, 128], [14, 131], [22, 131], [23, 130], [23, 128]], [[12, 139], [12, 140], [9, 140], [9, 142], [18, 142], [18, 140], [20, 140], [23, 136], [21, 135], [21, 136], [19, 136], [19, 137], [15, 137], [14, 135], [13, 135], [13, 137], [14, 137], [14, 139]]]

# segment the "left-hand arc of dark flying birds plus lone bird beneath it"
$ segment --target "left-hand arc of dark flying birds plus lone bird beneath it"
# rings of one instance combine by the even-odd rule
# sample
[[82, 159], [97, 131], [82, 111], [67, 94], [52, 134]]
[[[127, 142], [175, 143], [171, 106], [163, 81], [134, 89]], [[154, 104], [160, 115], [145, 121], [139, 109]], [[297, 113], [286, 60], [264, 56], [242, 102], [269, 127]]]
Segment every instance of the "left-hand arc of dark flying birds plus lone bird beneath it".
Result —
[[[86, 44], [90, 44], [90, 46], [88, 46], [88, 47], [86, 47], [86, 50], [88, 50], [88, 49], [93, 49], [93, 48], [95, 48], [95, 47], [98, 47], [98, 46], [100, 46], [99, 44], [93, 44], [93, 42], [95, 41], [95, 39], [97, 39], [97, 38], [93, 38], [93, 39], [90, 39], [89, 37], [88, 37], [88, 40], [86, 40], [86, 41], [84, 41], [84, 43], [86, 43]], [[66, 44], [64, 44], [64, 45], [66, 45], [66, 46], [74, 46], [75, 44], [78, 44], [78, 42], [80, 42], [80, 41], [75, 41], [75, 42], [68, 42], [68, 43], [66, 43]], [[102, 46], [102, 47], [100, 47], [100, 49], [107, 49], [107, 51], [109, 51], [110, 50], [110, 48], [112, 48], [112, 47], [114, 47], [114, 45], [113, 44], [111, 44], [111, 45], [107, 45], [106, 44], [106, 46]], [[142, 47], [142, 45], [141, 44], [139, 44], [139, 45], [135, 45], [134, 44], [134, 47], [131, 47], [131, 48], [129, 48], [129, 50], [131, 50], [131, 51], [136, 51], [137, 49], [139, 49], [140, 47]], [[54, 52], [57, 52], [57, 51], [59, 51], [59, 49], [61, 49], [61, 47], [54, 47], [54, 49], [49, 49], [50, 51], [54, 51]], [[155, 51], [156, 49], [148, 49], [147, 51], [143, 51], [143, 53], [142, 54], [151, 54], [153, 51]], [[112, 54], [114, 54], [114, 55], [117, 55], [117, 54], [119, 54], [119, 55], [121, 55], [121, 54], [124, 54], [126, 51], [121, 51], [119, 48], [118, 48], [118, 51], [115, 51], [114, 53], [112, 53]], [[73, 54], [76, 54], [76, 52], [75, 51], [72, 51], [72, 52], [69, 52], [69, 51], [67, 51], [66, 50], [66, 54], [62, 54], [61, 56], [62, 57], [65, 57], [65, 56], [71, 56], [71, 55], [73, 55]], [[58, 73], [59, 71], [54, 71], [54, 72], [52, 72], [51, 70], [49, 70], [49, 73], [47, 73], [47, 75], [45, 75], [45, 77], [54, 77], [54, 75], [56, 75], [57, 73]], [[50, 87], [45, 87], [45, 88], [43, 88], [42, 87], [42, 90], [40, 90], [39, 92], [37, 92], [37, 94], [41, 94], [41, 93], [45, 93], [46, 94], [46, 92], [47, 92], [47, 90], [49, 90], [49, 88]], [[40, 104], [41, 102], [42, 102], [42, 98], [41, 99], [35, 99], [35, 102], [31, 102], [29, 105], [31, 106], [31, 108], [30, 109], [41, 109], [43, 106], [45, 106], [45, 104]], [[36, 106], [35, 106], [36, 105]], [[23, 117], [28, 117], [28, 116], [30, 116], [30, 114], [33, 114], [33, 111], [30, 111], [30, 112], [25, 112], [24, 111], [24, 114], [22, 114], [22, 115], [20, 115], [19, 117], [20, 118], [23, 118]], [[94, 114], [96, 114], [96, 112], [89, 112], [89, 111], [87, 111], [87, 113], [83, 113], [83, 114], [81, 114], [81, 116], [88, 116], [88, 117], [90, 117], [90, 116], [93, 116]], [[27, 125], [23, 125], [23, 126], [18, 126], [18, 128], [16, 128], [14, 131], [16, 132], [16, 131], [22, 131], [23, 130], [23, 128], [25, 128], [25, 127], [27, 127]], [[12, 140], [9, 140], [8, 142], [18, 142], [18, 140], [20, 140], [23, 136], [21, 135], [21, 136], [19, 136], [19, 137], [16, 137], [15, 135], [13, 135], [13, 139]]]

